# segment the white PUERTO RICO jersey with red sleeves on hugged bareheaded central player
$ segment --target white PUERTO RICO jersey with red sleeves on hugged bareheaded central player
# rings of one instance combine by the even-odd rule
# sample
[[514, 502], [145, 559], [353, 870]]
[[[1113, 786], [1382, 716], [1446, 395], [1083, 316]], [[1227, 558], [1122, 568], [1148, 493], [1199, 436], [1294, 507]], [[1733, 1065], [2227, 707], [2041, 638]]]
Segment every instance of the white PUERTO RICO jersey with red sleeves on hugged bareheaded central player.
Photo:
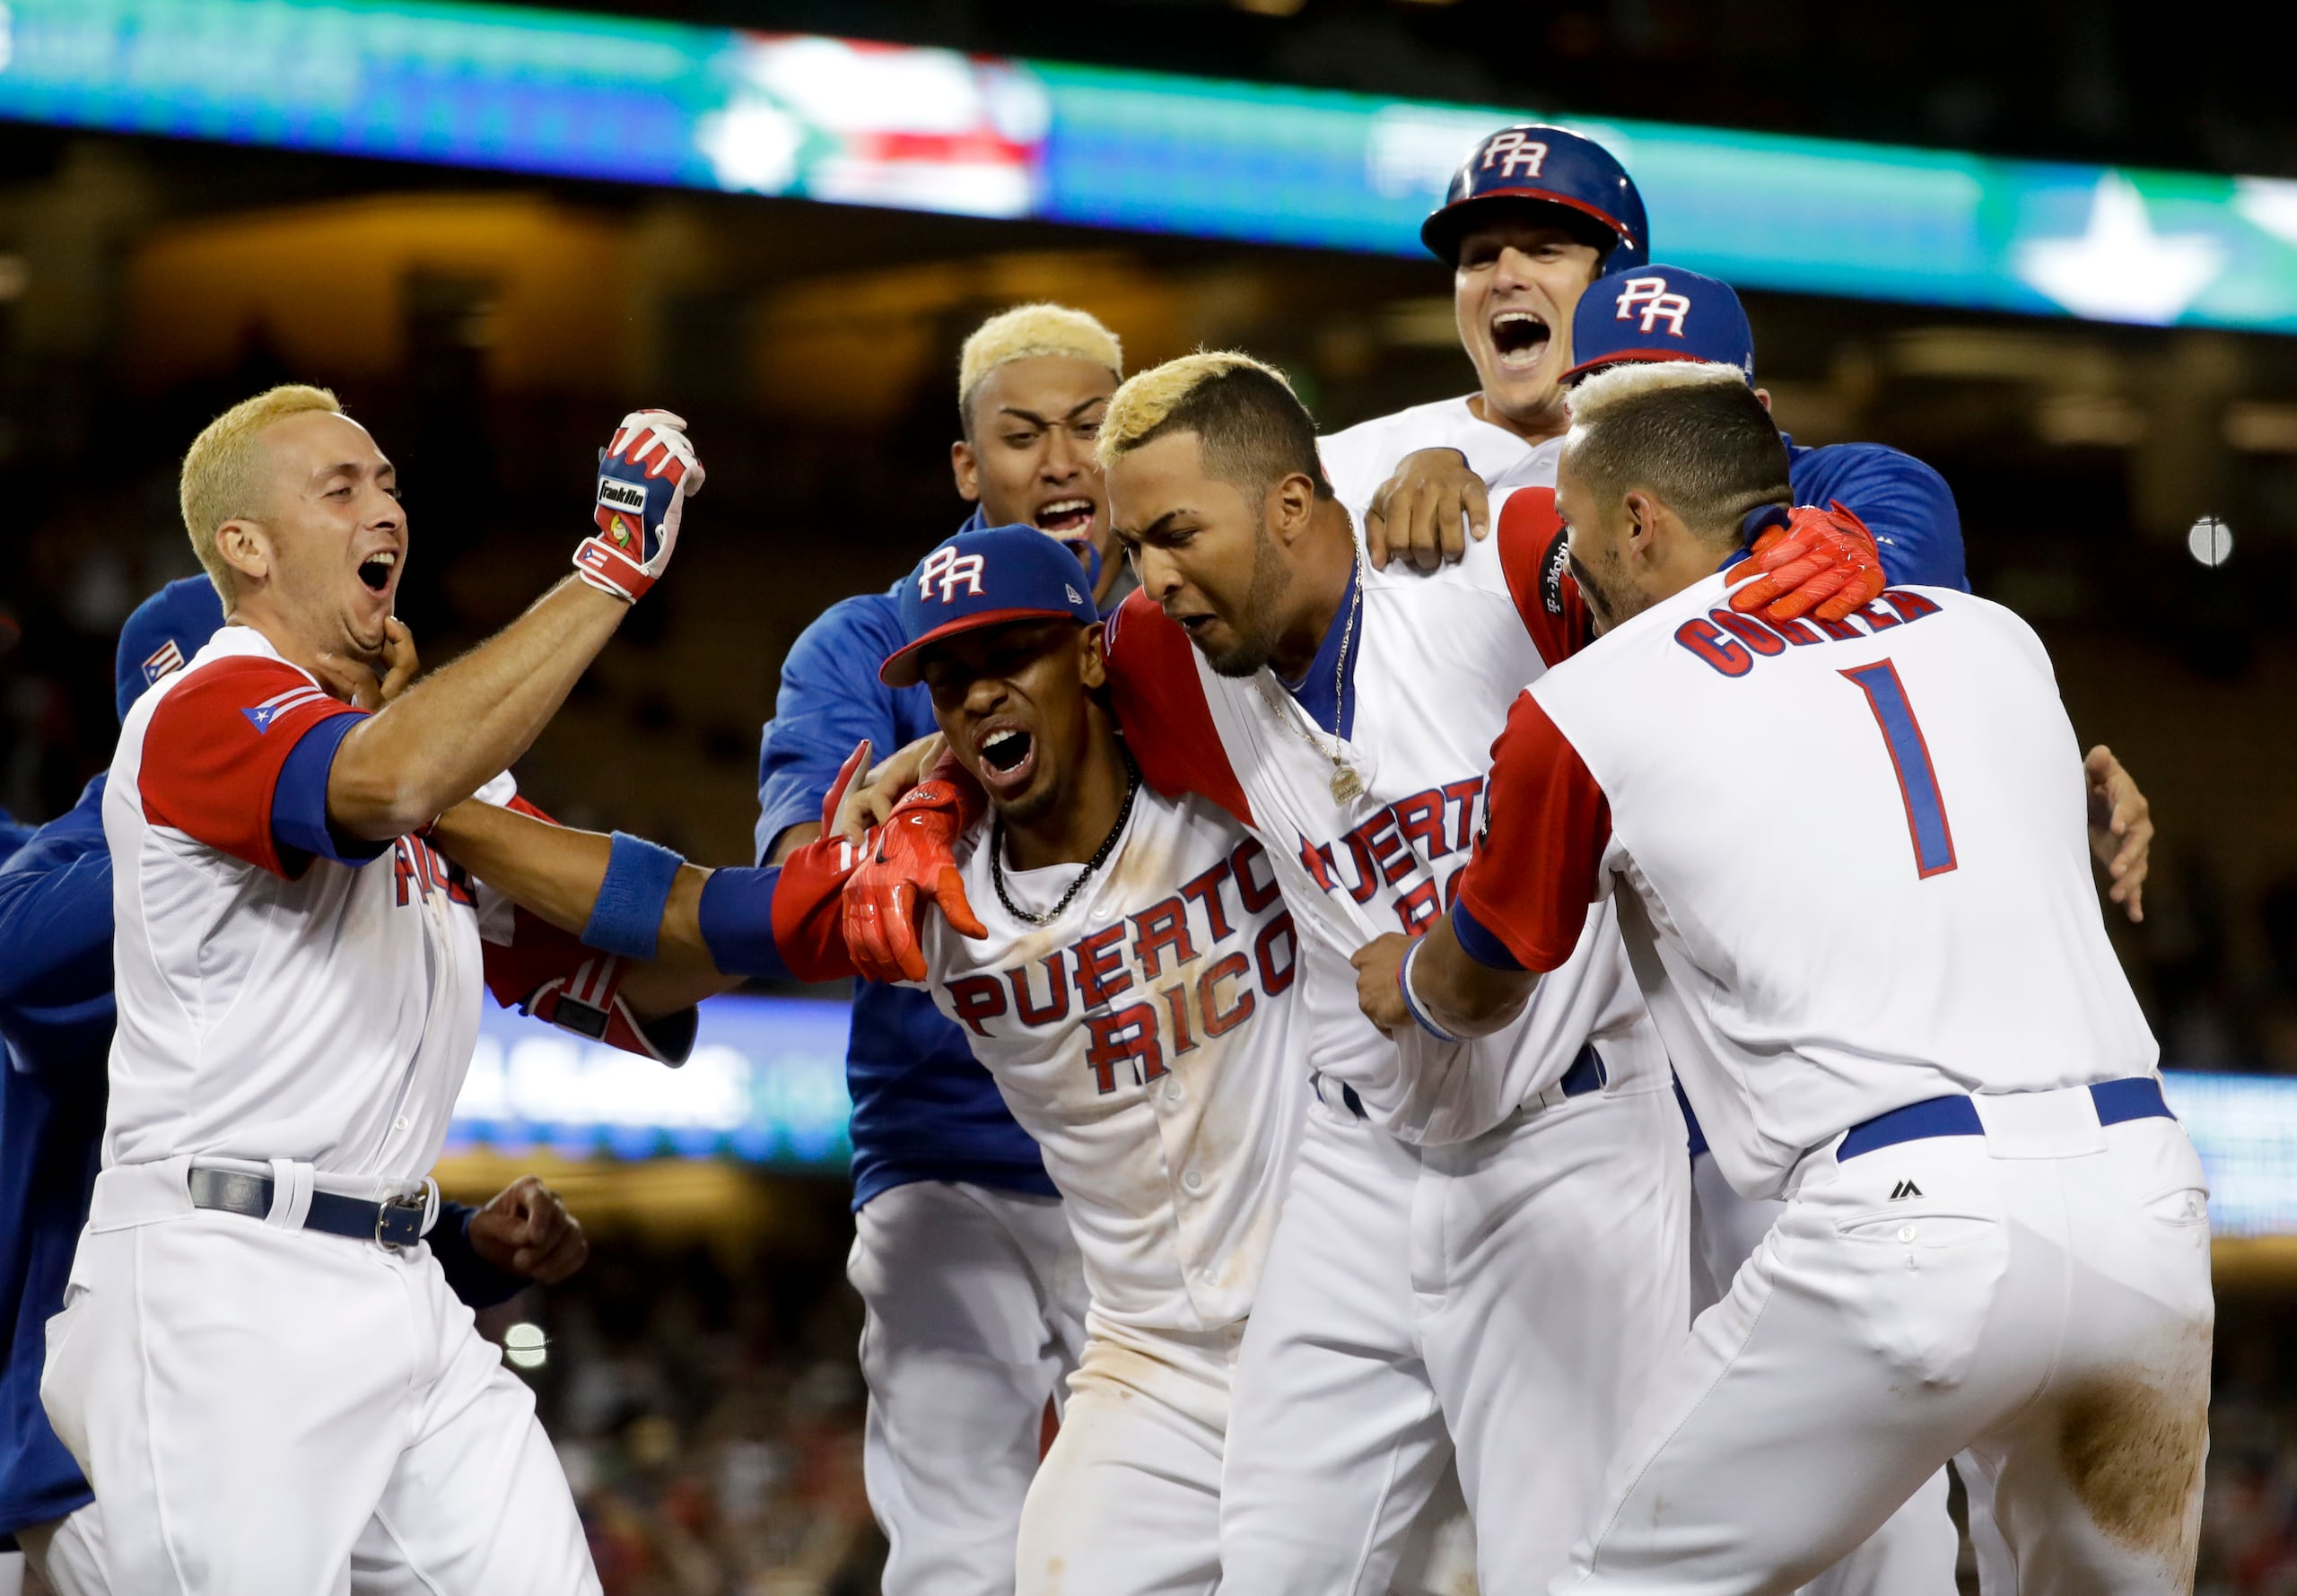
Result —
[[[1300, 914], [1309, 1061], [1351, 1086], [1387, 1130], [1463, 1141], [1557, 1084], [1594, 1040], [1612, 1077], [1665, 1070], [1612, 912], [1580, 914], [1571, 974], [1525, 1015], [1468, 1047], [1399, 1043], [1362, 1017], [1348, 955], [1378, 935], [1417, 932], [1449, 905], [1484, 818], [1484, 767], [1514, 682], [1576, 643], [1576, 592], [1560, 586], [1555, 496], [1495, 501], [1491, 540], [1438, 572], [1360, 565], [1351, 636], [1335, 618], [1293, 698], [1270, 671], [1224, 677], [1146, 595], [1109, 625], [1119, 712], [1155, 726], [1142, 769], [1165, 790], [1211, 797], [1252, 827]], [[1332, 680], [1346, 643], [1348, 680]], [[1339, 735], [1332, 735], [1335, 723]], [[1335, 797], [1335, 767], [1364, 792]]]

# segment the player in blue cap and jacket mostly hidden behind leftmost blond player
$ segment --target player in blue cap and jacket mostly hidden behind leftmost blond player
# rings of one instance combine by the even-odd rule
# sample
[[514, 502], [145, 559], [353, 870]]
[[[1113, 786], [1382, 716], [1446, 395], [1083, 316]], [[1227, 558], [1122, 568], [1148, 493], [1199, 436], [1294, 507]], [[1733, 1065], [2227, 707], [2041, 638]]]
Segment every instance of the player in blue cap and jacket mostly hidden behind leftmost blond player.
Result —
[[[168, 583], [119, 629], [117, 700], [179, 671], [223, 625], [207, 576]], [[80, 801], [28, 834], [0, 866], [0, 1532], [39, 1548], [41, 1573], [62, 1596], [108, 1589], [94, 1495], [39, 1410], [41, 1327], [64, 1300], [71, 1247], [87, 1222], [103, 1130], [103, 1068], [113, 1040], [113, 861], [103, 847], [103, 776]], [[510, 1300], [531, 1281], [556, 1284], [588, 1256], [581, 1224], [556, 1192], [526, 1176], [485, 1208], [439, 1203], [425, 1245], [462, 1302]], [[351, 1589], [386, 1591], [393, 1562], [370, 1532], [351, 1550]]]

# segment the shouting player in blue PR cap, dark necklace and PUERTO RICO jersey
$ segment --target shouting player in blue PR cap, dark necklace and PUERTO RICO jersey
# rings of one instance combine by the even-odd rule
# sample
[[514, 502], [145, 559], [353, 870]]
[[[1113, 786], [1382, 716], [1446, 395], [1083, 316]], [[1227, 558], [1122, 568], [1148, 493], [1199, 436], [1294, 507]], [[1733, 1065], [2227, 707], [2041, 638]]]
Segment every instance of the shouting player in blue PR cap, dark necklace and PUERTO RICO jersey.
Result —
[[[779, 868], [680, 870], [659, 958], [689, 962], [696, 992], [880, 971], [965, 1029], [1045, 1148], [1091, 1288], [1015, 1589], [1211, 1591], [1229, 1380], [1307, 1093], [1291, 1068], [1293, 921], [1259, 843], [1204, 799], [1142, 785], [1070, 551], [1031, 526], [962, 533], [907, 576], [900, 613], [905, 643], [880, 675], [930, 691], [956, 781], [988, 795], [939, 889], [946, 919], [887, 944], [877, 928], [912, 921], [848, 914], [880, 838], [857, 852], [829, 834]], [[864, 758], [848, 758], [825, 824]], [[905, 781], [896, 767], [880, 783]], [[882, 845], [958, 797], [951, 781], [912, 788]], [[611, 838], [480, 804], [439, 838], [560, 925], [620, 891]]]

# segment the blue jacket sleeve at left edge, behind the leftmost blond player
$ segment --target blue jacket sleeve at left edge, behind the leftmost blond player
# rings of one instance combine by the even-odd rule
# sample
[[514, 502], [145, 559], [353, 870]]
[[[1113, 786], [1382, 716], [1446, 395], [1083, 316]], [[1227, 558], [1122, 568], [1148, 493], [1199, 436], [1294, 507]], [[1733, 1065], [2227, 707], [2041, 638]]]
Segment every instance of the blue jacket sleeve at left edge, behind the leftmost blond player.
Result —
[[103, 776], [0, 868], [0, 1033], [46, 1075], [106, 1056], [113, 1029], [113, 857]]

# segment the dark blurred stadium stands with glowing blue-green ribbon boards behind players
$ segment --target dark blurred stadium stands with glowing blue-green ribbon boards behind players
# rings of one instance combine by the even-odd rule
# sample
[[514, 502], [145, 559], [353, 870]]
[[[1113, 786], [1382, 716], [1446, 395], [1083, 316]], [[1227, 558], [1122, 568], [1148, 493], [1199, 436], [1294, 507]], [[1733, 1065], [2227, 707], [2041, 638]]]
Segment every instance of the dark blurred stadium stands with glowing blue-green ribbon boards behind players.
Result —
[[[55, 815], [108, 760], [113, 632], [193, 570], [175, 457], [232, 400], [322, 381], [374, 425], [432, 661], [558, 574], [600, 429], [650, 402], [710, 491], [519, 774], [744, 861], [781, 652], [960, 517], [972, 324], [1043, 296], [1135, 367], [1250, 347], [1328, 427], [1459, 393], [1408, 223], [1500, 108], [1580, 122], [1649, 175], [1658, 255], [1748, 289], [1799, 439], [1948, 475], [1975, 588], [2155, 801], [2116, 939], [2203, 1075], [2203, 1589], [2297, 1589], [2297, 113], [2267, 57], [2136, 7], [14, 0], [0, 806]], [[875, 1589], [834, 999], [724, 1001], [666, 1079], [489, 1022], [441, 1173], [542, 1171], [590, 1226], [577, 1281], [487, 1325], [609, 1591]]]

